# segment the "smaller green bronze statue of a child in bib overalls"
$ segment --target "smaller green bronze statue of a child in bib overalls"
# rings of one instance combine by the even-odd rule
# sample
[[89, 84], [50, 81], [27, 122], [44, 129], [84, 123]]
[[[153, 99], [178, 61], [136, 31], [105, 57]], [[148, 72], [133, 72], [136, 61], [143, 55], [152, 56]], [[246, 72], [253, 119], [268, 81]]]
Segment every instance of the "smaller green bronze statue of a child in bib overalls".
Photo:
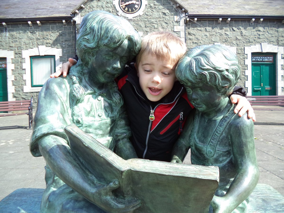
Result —
[[181, 163], [191, 149], [192, 164], [219, 167], [213, 212], [245, 212], [259, 177], [253, 122], [236, 116], [228, 99], [239, 76], [237, 56], [222, 45], [195, 47], [176, 68], [197, 111], [174, 147], [172, 162]]

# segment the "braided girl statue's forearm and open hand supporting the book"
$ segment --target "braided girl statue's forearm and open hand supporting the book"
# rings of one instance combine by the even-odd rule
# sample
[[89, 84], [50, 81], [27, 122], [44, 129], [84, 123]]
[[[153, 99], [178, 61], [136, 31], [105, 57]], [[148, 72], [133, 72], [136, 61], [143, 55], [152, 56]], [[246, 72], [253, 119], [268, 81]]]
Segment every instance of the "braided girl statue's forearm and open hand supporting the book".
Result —
[[55, 135], [39, 139], [39, 151], [51, 170], [64, 183], [106, 212], [131, 212], [140, 206], [138, 200], [117, 199], [112, 191], [119, 186], [117, 180], [109, 184], [97, 183], [94, 176], [82, 170], [66, 141]]

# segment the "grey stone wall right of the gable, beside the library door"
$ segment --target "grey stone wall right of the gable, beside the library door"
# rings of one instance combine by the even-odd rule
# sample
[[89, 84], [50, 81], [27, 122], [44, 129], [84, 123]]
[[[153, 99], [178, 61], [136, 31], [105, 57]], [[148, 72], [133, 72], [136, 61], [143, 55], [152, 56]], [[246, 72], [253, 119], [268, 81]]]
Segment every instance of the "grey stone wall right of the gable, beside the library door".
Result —
[[[241, 65], [241, 77], [239, 85], [245, 86], [247, 77], [245, 76], [245, 59], [244, 47], [260, 43], [284, 46], [284, 24], [281, 20], [263, 20], [258, 23], [250, 23], [250, 20], [233, 20], [226, 23], [223, 19], [221, 23], [218, 20], [202, 20], [197, 22], [189, 20], [186, 24], [186, 44], [188, 49], [197, 45], [207, 45], [221, 43], [237, 47], [237, 56]], [[284, 56], [282, 56], [283, 58]], [[282, 67], [283, 69], [283, 67]]]

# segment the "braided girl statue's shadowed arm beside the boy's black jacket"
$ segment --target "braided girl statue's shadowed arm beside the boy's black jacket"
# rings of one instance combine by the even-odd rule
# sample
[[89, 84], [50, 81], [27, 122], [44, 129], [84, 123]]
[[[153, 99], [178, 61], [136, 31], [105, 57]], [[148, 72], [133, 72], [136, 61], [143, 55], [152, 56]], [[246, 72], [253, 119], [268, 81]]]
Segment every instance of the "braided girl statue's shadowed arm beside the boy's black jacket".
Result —
[[114, 152], [122, 157], [124, 160], [130, 158], [138, 158], [136, 151], [130, 141], [131, 130], [129, 127], [128, 116], [126, 109], [123, 106], [120, 109], [120, 115], [114, 131], [115, 147]]

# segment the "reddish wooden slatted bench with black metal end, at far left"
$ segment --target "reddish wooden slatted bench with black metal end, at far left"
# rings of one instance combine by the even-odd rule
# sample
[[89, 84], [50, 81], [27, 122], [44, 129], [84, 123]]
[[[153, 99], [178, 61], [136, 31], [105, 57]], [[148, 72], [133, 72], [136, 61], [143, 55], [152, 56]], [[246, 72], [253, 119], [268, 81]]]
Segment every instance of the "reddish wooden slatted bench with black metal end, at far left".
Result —
[[28, 110], [28, 112], [0, 114], [0, 117], [13, 116], [13, 115], [24, 115], [24, 114], [29, 115], [29, 129], [32, 129], [33, 98], [31, 98], [30, 100], [23, 100], [23, 101], [2, 101], [0, 102], [0, 112], [23, 111], [23, 110]]

